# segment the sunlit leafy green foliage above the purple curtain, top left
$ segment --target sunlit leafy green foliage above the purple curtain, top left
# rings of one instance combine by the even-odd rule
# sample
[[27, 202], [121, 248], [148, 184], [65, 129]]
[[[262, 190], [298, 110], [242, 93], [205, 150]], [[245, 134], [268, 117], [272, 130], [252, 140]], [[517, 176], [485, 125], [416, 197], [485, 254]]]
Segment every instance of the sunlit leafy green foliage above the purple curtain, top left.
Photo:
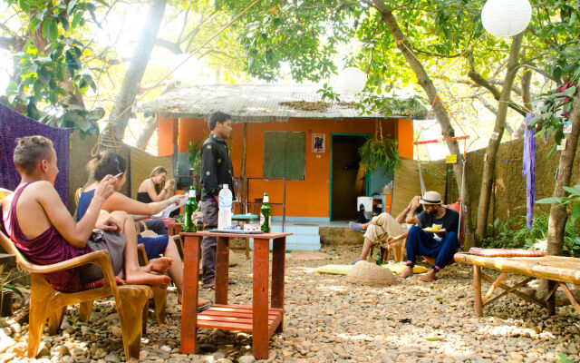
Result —
[[82, 56], [88, 42], [75, 38], [90, 16], [97, 23], [97, 5], [102, 0], [53, 2], [8, 0], [24, 22], [25, 42], [14, 49], [14, 76], [8, 84], [8, 103], [42, 123], [77, 127], [82, 135], [98, 132], [96, 122], [104, 111], [86, 109], [82, 94], [97, 91], [92, 78], [98, 70], [83, 69]]

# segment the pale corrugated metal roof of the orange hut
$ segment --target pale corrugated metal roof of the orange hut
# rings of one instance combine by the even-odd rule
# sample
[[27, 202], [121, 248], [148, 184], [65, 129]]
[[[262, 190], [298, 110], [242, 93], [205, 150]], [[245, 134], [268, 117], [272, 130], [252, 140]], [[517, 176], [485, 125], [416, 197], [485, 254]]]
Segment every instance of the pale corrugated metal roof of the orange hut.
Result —
[[[334, 103], [324, 111], [304, 111], [281, 105], [285, 102], [321, 102], [317, 85], [306, 84], [217, 84], [183, 86], [140, 105], [141, 113], [160, 113], [171, 117], [204, 117], [221, 111], [229, 113], [234, 123], [286, 122], [289, 117], [318, 119], [384, 117], [380, 113], [360, 114], [353, 106]], [[341, 95], [341, 103], [356, 101], [352, 95]], [[393, 116], [411, 118], [409, 115]]]

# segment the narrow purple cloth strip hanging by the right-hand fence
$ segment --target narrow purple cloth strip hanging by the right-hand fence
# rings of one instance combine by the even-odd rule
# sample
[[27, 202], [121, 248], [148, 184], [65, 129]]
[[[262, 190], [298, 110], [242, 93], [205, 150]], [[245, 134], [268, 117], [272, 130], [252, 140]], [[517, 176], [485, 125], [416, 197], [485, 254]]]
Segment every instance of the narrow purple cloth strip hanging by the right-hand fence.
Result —
[[[526, 126], [534, 117], [534, 113], [526, 114]], [[524, 136], [524, 158], [522, 162], [522, 173], [526, 175], [526, 221], [527, 229], [532, 228], [534, 219], [534, 203], [536, 202], [536, 127], [528, 129]]]

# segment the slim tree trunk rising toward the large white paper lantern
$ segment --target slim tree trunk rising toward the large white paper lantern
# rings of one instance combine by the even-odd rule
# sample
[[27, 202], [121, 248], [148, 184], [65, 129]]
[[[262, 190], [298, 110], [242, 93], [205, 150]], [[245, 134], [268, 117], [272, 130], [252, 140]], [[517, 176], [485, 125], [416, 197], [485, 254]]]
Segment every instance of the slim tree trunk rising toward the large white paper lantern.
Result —
[[475, 231], [476, 243], [486, 237], [488, 228], [488, 211], [489, 200], [491, 199], [491, 187], [493, 185], [493, 177], [496, 172], [496, 155], [498, 154], [499, 143], [506, 128], [507, 107], [509, 103], [509, 96], [514, 79], [517, 74], [517, 64], [519, 58], [519, 51], [522, 46], [524, 38], [523, 32], [514, 36], [509, 50], [509, 58], [507, 60], [507, 73], [504, 79], [504, 84], [501, 89], [501, 97], [498, 104], [498, 117], [496, 118], [496, 125], [493, 131], [497, 134], [496, 137], [491, 137], [488, 143], [488, 151], [486, 152], [486, 159], [483, 164], [483, 175], [481, 177], [481, 192], [479, 194], [478, 204], [478, 221]]

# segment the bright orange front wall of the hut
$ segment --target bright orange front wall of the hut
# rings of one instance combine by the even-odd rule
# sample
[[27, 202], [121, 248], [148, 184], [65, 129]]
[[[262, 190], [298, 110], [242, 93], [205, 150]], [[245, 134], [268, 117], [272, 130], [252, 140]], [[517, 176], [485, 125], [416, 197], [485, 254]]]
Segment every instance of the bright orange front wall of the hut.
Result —
[[[304, 181], [286, 181], [286, 216], [328, 218], [331, 133], [366, 133], [373, 136], [375, 125], [374, 120], [361, 119], [290, 119], [287, 123], [247, 123], [246, 176], [262, 177], [264, 132], [306, 132], [305, 179]], [[187, 151], [189, 141], [205, 139], [208, 132], [208, 123], [203, 119], [179, 119], [179, 152]], [[312, 152], [312, 133], [324, 133], [325, 152]], [[398, 138], [401, 156], [412, 157], [412, 121], [382, 120], [382, 133], [385, 137]], [[232, 145], [231, 157], [236, 176], [240, 175], [241, 169], [242, 137], [243, 124], [235, 123], [232, 140], [229, 143]], [[249, 201], [262, 198], [263, 193], [267, 191], [272, 203], [282, 202], [282, 181], [250, 180], [248, 189]], [[282, 215], [282, 208], [279, 206], [273, 206], [272, 211], [274, 215]]]

